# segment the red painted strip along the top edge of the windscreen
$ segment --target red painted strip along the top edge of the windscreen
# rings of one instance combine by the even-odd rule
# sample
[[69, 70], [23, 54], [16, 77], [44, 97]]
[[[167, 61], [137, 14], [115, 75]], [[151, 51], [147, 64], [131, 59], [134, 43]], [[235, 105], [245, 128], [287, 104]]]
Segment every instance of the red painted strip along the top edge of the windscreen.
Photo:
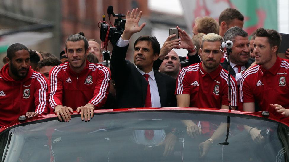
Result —
[[[186, 110], [186, 111], [203, 111], [203, 112], [224, 112], [224, 113], [233, 113], [233, 114], [240, 114], [240, 115], [249, 115], [249, 116], [255, 116], [255, 117], [263, 117], [262, 111], [259, 112], [242, 112], [242, 111], [236, 111], [236, 110], [227, 110], [227, 109], [212, 109], [212, 108], [194, 108], [194, 107], [172, 107], [172, 108], [122, 108], [122, 109], [101, 109], [101, 110], [94, 110], [94, 113], [115, 113], [115, 112], [137, 112], [137, 111], [163, 111], [163, 110]], [[73, 115], [78, 114], [76, 111], [74, 111]], [[0, 128], [0, 132], [3, 130], [15, 126], [20, 123], [26, 123], [26, 122], [32, 122], [36, 120], [42, 120], [42, 119], [48, 119], [52, 117], [57, 117], [55, 114], [49, 114], [49, 115], [43, 115], [39, 117], [33, 117], [30, 119], [27, 119], [25, 122], [19, 122], [18, 120], [13, 121], [11, 124], [4, 126]], [[270, 114], [269, 117], [266, 117], [270, 120], [274, 120], [277, 122], [280, 122], [284, 125], [287, 125], [289, 127], [289, 123], [283, 122], [274, 115]]]

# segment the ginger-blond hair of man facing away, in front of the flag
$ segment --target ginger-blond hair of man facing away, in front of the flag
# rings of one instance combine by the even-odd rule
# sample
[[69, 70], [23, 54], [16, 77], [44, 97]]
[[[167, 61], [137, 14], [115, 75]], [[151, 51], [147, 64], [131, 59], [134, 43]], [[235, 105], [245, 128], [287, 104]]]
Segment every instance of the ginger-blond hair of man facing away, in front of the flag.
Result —
[[213, 18], [209, 16], [205, 17], [197, 17], [195, 19], [195, 24], [198, 24], [198, 32], [199, 33], [216, 33], [219, 34], [219, 24]]

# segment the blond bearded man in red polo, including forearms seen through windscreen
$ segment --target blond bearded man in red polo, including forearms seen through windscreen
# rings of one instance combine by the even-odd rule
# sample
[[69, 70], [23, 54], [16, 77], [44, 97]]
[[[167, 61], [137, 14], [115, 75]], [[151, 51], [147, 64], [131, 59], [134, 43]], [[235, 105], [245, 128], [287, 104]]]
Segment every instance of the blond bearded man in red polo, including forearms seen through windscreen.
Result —
[[[228, 102], [228, 72], [220, 65], [224, 53], [220, 46], [223, 38], [210, 33], [203, 36], [200, 55], [201, 63], [183, 68], [177, 78], [176, 97], [178, 107], [203, 107], [229, 109]], [[237, 106], [237, 83], [231, 76], [231, 105]], [[187, 127], [187, 135], [196, 138], [203, 133], [193, 121], [182, 121]], [[205, 122], [203, 122], [205, 123]], [[203, 124], [201, 124], [201, 127]], [[211, 144], [224, 135], [226, 123], [221, 123], [213, 135], [199, 144], [201, 157], [204, 157]], [[207, 138], [202, 136], [202, 138]], [[215, 144], [215, 143], [214, 143]]]

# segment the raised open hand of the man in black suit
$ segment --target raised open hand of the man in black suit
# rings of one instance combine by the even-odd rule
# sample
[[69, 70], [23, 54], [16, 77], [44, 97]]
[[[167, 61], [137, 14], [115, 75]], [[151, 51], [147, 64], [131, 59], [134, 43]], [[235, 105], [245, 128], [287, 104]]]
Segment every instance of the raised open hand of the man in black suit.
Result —
[[131, 35], [141, 31], [142, 28], [145, 27], [145, 22], [139, 26], [139, 20], [141, 17], [142, 11], [139, 12], [139, 9], [133, 9], [131, 13], [130, 11], [127, 12], [126, 24], [124, 26], [123, 34], [121, 35], [121, 38], [123, 40], [129, 40], [131, 38]]

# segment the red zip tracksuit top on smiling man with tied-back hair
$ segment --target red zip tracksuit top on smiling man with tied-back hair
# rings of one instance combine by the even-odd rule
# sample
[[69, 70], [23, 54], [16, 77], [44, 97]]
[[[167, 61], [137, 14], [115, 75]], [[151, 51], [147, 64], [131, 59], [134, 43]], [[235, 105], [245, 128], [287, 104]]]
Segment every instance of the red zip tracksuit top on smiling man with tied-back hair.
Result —
[[50, 107], [62, 105], [76, 110], [91, 103], [99, 109], [107, 99], [109, 81], [108, 68], [88, 61], [80, 73], [72, 71], [68, 62], [55, 66], [49, 72]]

